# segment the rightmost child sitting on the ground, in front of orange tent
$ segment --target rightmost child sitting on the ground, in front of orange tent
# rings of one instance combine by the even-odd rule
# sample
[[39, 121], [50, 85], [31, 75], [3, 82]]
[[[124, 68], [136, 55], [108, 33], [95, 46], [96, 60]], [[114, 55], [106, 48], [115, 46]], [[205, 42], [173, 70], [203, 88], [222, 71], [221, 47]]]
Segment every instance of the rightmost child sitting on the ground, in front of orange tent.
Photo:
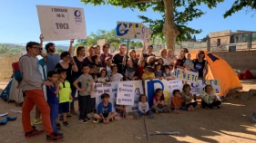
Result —
[[201, 107], [204, 109], [220, 109], [221, 101], [218, 100], [217, 95], [212, 93], [212, 86], [206, 85], [205, 93], [202, 94]]

